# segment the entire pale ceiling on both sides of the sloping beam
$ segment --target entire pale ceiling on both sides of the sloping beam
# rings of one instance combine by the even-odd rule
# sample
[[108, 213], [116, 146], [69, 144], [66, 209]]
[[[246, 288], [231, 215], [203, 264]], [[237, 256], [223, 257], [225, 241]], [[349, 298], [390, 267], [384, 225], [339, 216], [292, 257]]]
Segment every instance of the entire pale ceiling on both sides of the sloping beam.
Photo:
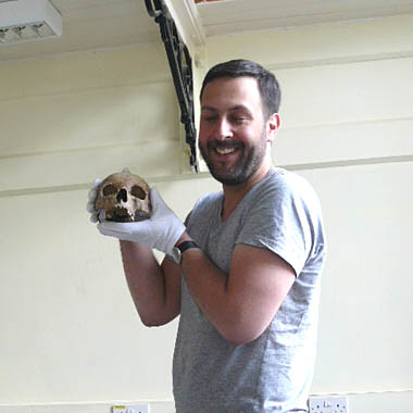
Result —
[[[160, 41], [145, 0], [51, 1], [63, 16], [62, 37], [0, 46], [0, 61]], [[206, 37], [413, 13], [413, 0], [221, 0], [193, 7]]]

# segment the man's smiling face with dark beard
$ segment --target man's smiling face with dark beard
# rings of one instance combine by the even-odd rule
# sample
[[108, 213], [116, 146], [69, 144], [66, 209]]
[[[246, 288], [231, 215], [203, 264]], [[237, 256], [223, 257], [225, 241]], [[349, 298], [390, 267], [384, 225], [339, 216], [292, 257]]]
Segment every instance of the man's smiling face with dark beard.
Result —
[[205, 86], [199, 149], [215, 179], [224, 185], [249, 182], [262, 167], [268, 140], [253, 77], [217, 78]]

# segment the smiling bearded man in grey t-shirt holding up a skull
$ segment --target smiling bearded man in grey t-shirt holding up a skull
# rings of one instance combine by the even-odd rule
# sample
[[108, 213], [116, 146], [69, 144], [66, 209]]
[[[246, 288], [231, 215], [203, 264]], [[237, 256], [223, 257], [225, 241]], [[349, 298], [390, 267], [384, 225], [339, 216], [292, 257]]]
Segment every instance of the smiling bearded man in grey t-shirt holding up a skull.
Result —
[[[180, 315], [177, 413], [306, 412], [324, 230], [309, 184], [272, 165], [279, 97], [274, 75], [256, 63], [212, 67], [199, 148], [223, 191], [197, 202], [186, 226], [155, 189], [151, 220], [98, 225], [121, 239], [142, 322]], [[168, 254], [161, 265], [152, 248]]]

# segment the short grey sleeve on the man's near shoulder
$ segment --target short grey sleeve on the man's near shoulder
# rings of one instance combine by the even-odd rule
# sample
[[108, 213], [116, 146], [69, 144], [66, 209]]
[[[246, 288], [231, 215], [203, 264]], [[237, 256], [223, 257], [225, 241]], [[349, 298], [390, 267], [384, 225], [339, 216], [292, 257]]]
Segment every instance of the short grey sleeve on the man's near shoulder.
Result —
[[[314, 247], [320, 204], [302, 178], [277, 177], [250, 199], [236, 243], [267, 248], [299, 276]], [[314, 222], [315, 221], [315, 222]]]

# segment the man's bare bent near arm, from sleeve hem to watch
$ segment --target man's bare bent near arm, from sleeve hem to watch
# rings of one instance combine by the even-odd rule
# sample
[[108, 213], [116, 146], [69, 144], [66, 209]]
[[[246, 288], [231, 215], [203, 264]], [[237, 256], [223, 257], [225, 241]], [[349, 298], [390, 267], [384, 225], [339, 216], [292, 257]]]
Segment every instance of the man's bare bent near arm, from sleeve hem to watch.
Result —
[[246, 245], [235, 247], [228, 277], [199, 249], [184, 253], [183, 272], [198, 305], [234, 345], [265, 330], [296, 279], [281, 258]]

